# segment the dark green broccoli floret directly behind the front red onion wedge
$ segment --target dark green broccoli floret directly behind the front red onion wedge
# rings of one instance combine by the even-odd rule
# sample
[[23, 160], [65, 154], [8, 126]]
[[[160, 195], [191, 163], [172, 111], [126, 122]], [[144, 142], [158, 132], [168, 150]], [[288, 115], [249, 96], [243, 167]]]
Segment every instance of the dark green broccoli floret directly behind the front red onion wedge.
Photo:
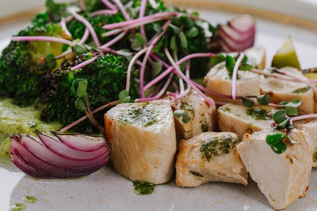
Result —
[[[88, 53], [76, 61], [82, 62], [90, 58], [92, 58], [92, 54]], [[46, 80], [43, 80], [44, 86], [47, 85], [42, 98], [44, 99], [43, 119], [58, 120], [63, 126], [66, 126], [85, 115], [85, 112], [75, 108], [77, 96], [72, 89], [72, 81], [77, 78], [84, 78], [88, 81], [87, 93], [92, 110], [118, 100], [118, 94], [126, 87], [128, 64], [125, 58], [107, 54], [105, 57], [98, 56], [94, 63], [81, 69], [71, 71], [70, 66], [76, 65], [76, 63], [65, 64], [52, 74], [48, 74]], [[137, 71], [133, 68], [130, 83], [132, 99], [138, 97], [137, 83], [134, 79], [136, 75]], [[94, 115], [101, 125], [103, 125], [103, 113]], [[77, 124], [74, 130], [91, 133], [96, 128], [86, 119]]]

